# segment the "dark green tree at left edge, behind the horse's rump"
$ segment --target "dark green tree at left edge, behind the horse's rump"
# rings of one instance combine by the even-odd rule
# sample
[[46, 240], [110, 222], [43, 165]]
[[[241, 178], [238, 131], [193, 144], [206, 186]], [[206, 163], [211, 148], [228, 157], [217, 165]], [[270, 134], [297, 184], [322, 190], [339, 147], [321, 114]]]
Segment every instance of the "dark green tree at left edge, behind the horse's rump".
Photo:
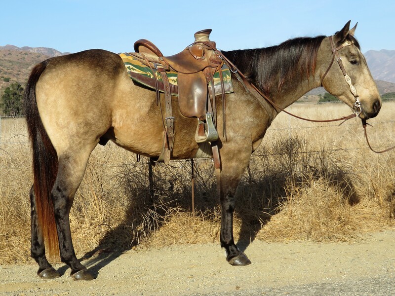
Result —
[[18, 83], [11, 83], [5, 88], [4, 94], [1, 96], [1, 108], [6, 116], [24, 115], [23, 110], [23, 87]]

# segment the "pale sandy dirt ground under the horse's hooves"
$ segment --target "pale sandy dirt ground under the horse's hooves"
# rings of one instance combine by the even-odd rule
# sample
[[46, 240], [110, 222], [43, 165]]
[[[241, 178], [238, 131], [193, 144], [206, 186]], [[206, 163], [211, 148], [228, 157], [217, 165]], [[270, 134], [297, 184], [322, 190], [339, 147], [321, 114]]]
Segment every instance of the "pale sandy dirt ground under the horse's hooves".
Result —
[[55, 265], [63, 276], [53, 280], [41, 280], [35, 262], [3, 265], [0, 295], [252, 295], [249, 291], [369, 277], [392, 283], [395, 276], [395, 228], [352, 243], [255, 240], [239, 247], [251, 265], [231, 266], [218, 244], [102, 253], [83, 261], [96, 277], [89, 282], [73, 281], [63, 264]]

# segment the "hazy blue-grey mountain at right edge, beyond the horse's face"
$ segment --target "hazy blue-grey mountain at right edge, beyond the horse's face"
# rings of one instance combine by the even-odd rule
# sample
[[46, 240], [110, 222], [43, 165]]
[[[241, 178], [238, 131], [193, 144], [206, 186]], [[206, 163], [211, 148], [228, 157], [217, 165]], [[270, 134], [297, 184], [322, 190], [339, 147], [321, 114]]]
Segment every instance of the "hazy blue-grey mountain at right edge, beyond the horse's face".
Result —
[[364, 56], [374, 79], [395, 83], [395, 50], [369, 50]]

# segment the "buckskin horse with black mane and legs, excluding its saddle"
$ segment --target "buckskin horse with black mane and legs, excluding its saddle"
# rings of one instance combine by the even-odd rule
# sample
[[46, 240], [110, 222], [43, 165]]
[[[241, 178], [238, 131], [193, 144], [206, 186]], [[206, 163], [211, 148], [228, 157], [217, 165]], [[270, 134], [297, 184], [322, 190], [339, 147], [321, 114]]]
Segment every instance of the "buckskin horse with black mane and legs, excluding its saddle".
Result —
[[[220, 157], [216, 169], [222, 209], [220, 242], [229, 263], [251, 263], [234, 242], [235, 193], [251, 153], [277, 113], [321, 85], [362, 120], [380, 111], [380, 95], [354, 37], [355, 29], [348, 22], [330, 37], [298, 37], [268, 48], [220, 52], [245, 78], [237, 79], [239, 75], [233, 73], [234, 92], [217, 96], [219, 136], [213, 141]], [[275, 105], [254, 95], [247, 83]], [[221, 102], [224, 98], [226, 104]], [[195, 140], [196, 118], [180, 112], [176, 97], [172, 101], [171, 158], [194, 158], [201, 146]], [[111, 140], [157, 158], [163, 148], [164, 102], [158, 106], [155, 91], [131, 81], [118, 54], [95, 49], [38, 64], [26, 86], [25, 104], [34, 172], [31, 256], [39, 264], [38, 275], [60, 276], [46, 259], [46, 247], [48, 254], [59, 251], [73, 279], [91, 280], [93, 275], [75, 255], [69, 223], [90, 153], [99, 142]], [[224, 122], [226, 137], [221, 133]]]

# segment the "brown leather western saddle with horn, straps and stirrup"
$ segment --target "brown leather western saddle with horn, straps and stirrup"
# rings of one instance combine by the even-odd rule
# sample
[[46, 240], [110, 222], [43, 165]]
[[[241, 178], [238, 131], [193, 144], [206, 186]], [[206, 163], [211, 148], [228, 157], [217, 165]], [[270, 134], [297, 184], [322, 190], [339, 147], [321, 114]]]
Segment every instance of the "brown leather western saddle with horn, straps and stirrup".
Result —
[[[197, 117], [197, 129], [195, 140], [197, 143], [213, 143], [218, 139], [216, 129], [216, 87], [214, 74], [219, 73], [220, 84], [217, 91], [222, 95], [223, 110], [225, 110], [225, 87], [221, 68], [224, 61], [220, 57], [216, 44], [210, 41], [211, 29], [195, 33], [195, 42], [186, 47], [178, 54], [165, 57], [152, 42], [146, 39], [137, 40], [134, 43], [134, 53], [130, 53], [134, 59], [148, 66], [153, 73], [157, 104], [160, 94], [165, 97], [163, 147], [160, 156], [155, 161], [170, 160], [173, 148], [175, 128], [172, 112], [171, 94], [175, 93], [173, 85], [169, 83], [169, 72], [177, 73], [177, 94], [181, 114], [186, 117]], [[132, 76], [131, 76], [132, 77]], [[133, 78], [133, 77], [132, 77]], [[154, 88], [154, 87], [153, 87]], [[219, 89], [218, 89], [219, 88]], [[212, 102], [210, 100], [212, 98]], [[225, 120], [225, 112], [223, 115]], [[226, 137], [225, 121], [224, 136]], [[213, 146], [213, 145], [212, 145]], [[215, 152], [213, 151], [214, 159]]]

